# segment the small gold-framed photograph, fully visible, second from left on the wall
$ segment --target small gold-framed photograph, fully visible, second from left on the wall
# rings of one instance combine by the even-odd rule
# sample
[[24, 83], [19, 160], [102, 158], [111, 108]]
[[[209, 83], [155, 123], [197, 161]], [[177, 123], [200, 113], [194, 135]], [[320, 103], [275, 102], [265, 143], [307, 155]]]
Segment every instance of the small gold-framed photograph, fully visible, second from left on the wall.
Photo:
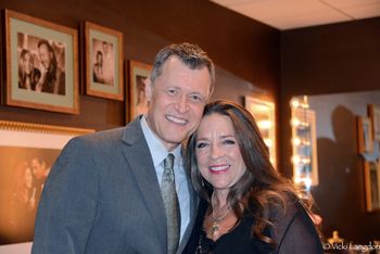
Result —
[[85, 23], [86, 94], [124, 100], [123, 34]]

